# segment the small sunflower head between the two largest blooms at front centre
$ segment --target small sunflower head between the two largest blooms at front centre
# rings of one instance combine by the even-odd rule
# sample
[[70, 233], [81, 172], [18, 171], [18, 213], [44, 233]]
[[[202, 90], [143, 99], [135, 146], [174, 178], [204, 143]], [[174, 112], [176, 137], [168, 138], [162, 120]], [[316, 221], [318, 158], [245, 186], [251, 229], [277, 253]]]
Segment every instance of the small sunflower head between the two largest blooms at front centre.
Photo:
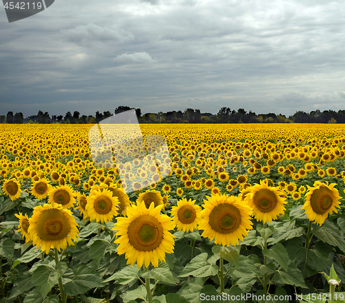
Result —
[[195, 200], [186, 198], [177, 201], [177, 206], [171, 207], [172, 219], [178, 231], [193, 231], [199, 223], [201, 207], [195, 205]]

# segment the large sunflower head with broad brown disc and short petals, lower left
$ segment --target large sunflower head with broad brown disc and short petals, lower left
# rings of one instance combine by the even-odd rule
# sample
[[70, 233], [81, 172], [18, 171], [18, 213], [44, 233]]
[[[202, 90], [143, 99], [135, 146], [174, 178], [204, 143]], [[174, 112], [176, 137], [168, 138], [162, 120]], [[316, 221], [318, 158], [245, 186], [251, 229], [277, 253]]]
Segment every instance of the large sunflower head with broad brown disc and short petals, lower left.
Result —
[[72, 211], [63, 209], [61, 205], [44, 204], [34, 207], [29, 219], [28, 234], [32, 245], [49, 253], [50, 249], [66, 249], [67, 244], [75, 245], [77, 241], [78, 224], [72, 216]]

